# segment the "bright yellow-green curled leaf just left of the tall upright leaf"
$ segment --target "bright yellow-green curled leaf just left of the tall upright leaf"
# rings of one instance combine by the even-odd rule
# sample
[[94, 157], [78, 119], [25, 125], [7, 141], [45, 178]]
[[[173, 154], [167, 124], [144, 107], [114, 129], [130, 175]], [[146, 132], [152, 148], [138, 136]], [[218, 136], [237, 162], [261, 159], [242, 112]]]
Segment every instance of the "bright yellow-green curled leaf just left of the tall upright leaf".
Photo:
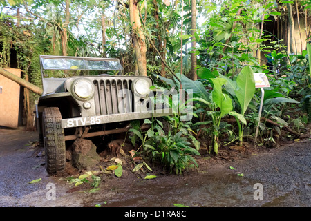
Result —
[[223, 93], [223, 84], [226, 84], [226, 79], [223, 78], [214, 78], [211, 79], [214, 84], [213, 91], [211, 92], [211, 95], [213, 97], [213, 101], [220, 108], [221, 117], [229, 113], [229, 111], [232, 111], [232, 100], [231, 98]]

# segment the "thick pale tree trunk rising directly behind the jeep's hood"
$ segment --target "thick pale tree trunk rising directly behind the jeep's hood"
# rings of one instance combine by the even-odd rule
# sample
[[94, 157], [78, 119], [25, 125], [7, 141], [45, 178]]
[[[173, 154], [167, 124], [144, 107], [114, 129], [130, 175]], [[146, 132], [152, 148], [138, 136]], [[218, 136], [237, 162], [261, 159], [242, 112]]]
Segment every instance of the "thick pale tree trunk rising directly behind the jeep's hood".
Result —
[[138, 2], [140, 0], [129, 0], [129, 15], [132, 26], [132, 39], [135, 51], [136, 62], [138, 65], [138, 73], [147, 76], [147, 60], [146, 60], [146, 39], [142, 32], [142, 24], [140, 23], [140, 14], [138, 10]]

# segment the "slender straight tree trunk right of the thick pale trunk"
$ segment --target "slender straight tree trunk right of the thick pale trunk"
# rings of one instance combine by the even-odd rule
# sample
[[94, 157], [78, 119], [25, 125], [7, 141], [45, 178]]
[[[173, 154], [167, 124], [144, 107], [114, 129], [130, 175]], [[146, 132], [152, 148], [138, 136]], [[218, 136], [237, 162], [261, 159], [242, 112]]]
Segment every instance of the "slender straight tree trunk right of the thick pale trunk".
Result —
[[[196, 51], [196, 37], [194, 33], [196, 32], [196, 0], [191, 0], [191, 47], [192, 51]], [[191, 53], [191, 79], [196, 81], [198, 79], [196, 75], [196, 54]]]

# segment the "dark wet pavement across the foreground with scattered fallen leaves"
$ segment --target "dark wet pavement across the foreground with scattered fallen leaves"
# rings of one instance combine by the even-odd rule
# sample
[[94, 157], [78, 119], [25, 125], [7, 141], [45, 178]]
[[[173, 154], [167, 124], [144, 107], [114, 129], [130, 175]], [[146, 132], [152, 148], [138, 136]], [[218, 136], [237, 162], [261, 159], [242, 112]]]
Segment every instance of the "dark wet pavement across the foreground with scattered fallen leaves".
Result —
[[126, 175], [132, 172], [124, 171], [120, 178], [103, 177], [95, 192], [73, 191], [75, 186], [63, 177], [49, 176], [42, 166], [44, 158], [36, 157], [30, 145], [35, 140], [36, 132], [0, 128], [0, 206], [311, 206], [309, 139], [187, 175], [138, 177], [129, 183]]

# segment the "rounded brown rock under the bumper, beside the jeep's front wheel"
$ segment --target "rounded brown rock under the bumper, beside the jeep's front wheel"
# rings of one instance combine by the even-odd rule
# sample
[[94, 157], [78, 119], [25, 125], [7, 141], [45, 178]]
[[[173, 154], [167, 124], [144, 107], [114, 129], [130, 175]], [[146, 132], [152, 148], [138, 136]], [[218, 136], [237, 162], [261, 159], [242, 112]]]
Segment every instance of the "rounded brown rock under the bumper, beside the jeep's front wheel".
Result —
[[100, 162], [100, 155], [96, 152], [96, 146], [91, 140], [77, 139], [73, 143], [73, 166], [77, 169], [86, 169]]

